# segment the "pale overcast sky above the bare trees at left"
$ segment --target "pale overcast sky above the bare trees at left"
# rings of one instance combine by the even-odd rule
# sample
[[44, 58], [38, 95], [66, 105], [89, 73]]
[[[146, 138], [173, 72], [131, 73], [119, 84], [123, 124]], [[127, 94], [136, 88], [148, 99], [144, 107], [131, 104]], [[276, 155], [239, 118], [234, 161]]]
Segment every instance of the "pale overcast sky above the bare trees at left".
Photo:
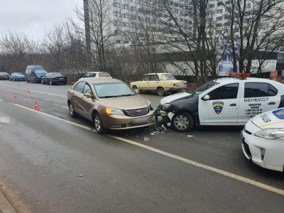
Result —
[[44, 38], [56, 24], [75, 16], [75, 6], [83, 7], [83, 0], [0, 0], [0, 33]]

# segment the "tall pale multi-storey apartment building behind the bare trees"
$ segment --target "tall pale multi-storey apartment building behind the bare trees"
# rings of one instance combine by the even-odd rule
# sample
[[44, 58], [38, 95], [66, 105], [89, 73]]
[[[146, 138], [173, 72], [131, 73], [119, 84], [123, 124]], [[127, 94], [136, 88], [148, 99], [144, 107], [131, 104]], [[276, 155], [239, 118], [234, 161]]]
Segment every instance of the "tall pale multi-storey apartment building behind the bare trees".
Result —
[[[95, 0], [84, 0], [84, 14], [86, 23], [86, 38], [88, 38], [89, 23], [92, 18], [92, 2]], [[111, 42], [117, 47], [130, 47], [133, 43], [174, 43], [182, 42], [183, 38], [179, 34], [182, 30], [190, 36], [195, 36], [197, 33], [196, 23], [202, 18], [196, 18], [198, 13], [194, 9], [192, 0], [169, 0], [167, 4], [161, 0], [103, 0], [105, 18], [104, 32], [111, 36]], [[244, 27], [249, 26], [253, 16], [258, 12], [260, 1], [246, 1], [242, 5], [244, 9]], [[266, 4], [266, 1], [264, 2]], [[280, 4], [283, 4], [284, 1]], [[279, 5], [278, 5], [279, 6]], [[209, 1], [209, 4], [204, 9], [207, 28], [206, 33], [219, 35], [220, 49], [222, 42], [231, 36], [231, 0]], [[274, 13], [273, 9], [269, 9]], [[284, 18], [283, 18], [284, 19]], [[266, 35], [273, 23], [267, 18], [261, 20], [261, 28], [258, 30], [259, 38]], [[238, 44], [239, 23], [234, 21], [234, 36], [236, 37], [236, 45]], [[88, 40], [88, 39], [87, 39]], [[223, 48], [223, 49], [222, 49]], [[231, 69], [229, 62], [229, 54], [225, 54], [223, 68], [225, 72]], [[266, 65], [266, 70], [275, 68], [275, 60], [269, 61]], [[221, 66], [220, 66], [221, 67]]]

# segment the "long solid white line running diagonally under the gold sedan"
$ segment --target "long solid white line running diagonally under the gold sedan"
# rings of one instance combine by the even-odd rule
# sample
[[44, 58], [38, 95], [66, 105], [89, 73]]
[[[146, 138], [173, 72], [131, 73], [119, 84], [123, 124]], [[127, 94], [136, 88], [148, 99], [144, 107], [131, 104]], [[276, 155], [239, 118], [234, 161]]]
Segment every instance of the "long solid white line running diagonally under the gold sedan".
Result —
[[[87, 129], [87, 130], [89, 130], [89, 131], [94, 131], [94, 132], [96, 132], [94, 129], [89, 128], [89, 127], [87, 127], [87, 126], [83, 126], [83, 125], [81, 125], [81, 124], [76, 124], [76, 123], [74, 123], [74, 122], [72, 122], [72, 121], [68, 121], [68, 120], [66, 120], [66, 119], [60, 119], [60, 118], [58, 118], [58, 117], [56, 117], [56, 116], [53, 116], [53, 115], [50, 115], [50, 114], [46, 114], [46, 113], [44, 113], [44, 112], [37, 111], [37, 110], [31, 109], [31, 108], [28, 108], [28, 107], [24, 107], [24, 106], [22, 106], [22, 105], [20, 105], [20, 104], [15, 104], [15, 105], [18, 106], [18, 107], [22, 107], [22, 108], [24, 108], [24, 109], [28, 109], [28, 110], [37, 112], [37, 113], [39, 113], [39, 114], [43, 114], [43, 115], [45, 115], [45, 116], [49, 116], [49, 117], [51, 117], [51, 118], [53, 118], [53, 119], [58, 119], [58, 120], [60, 120], [60, 121], [64, 121], [64, 122], [66, 122], [67, 124], [72, 124], [72, 125], [75, 125], [75, 126], [79, 126], [79, 127], [83, 128], [83, 129]], [[187, 158], [182, 158], [182, 157], [180, 157], [180, 156], [178, 156], [178, 155], [173, 155], [173, 154], [171, 154], [171, 153], [168, 153], [168, 152], [165, 152], [165, 151], [161, 151], [161, 150], [159, 150], [159, 149], [157, 149], [157, 148], [153, 148], [153, 147], [151, 147], [151, 146], [146, 146], [146, 145], [143, 145], [143, 144], [141, 144], [141, 143], [137, 143], [137, 142], [135, 142], [135, 141], [130, 141], [130, 140], [126, 139], [126, 138], [121, 138], [121, 137], [118, 137], [118, 136], [112, 136], [112, 135], [109, 135], [109, 134], [105, 134], [105, 136], [109, 136], [109, 137], [115, 138], [115, 139], [117, 139], [117, 140], [119, 140], [119, 141], [124, 141], [124, 142], [126, 142], [126, 143], [130, 143], [130, 144], [132, 144], [132, 145], [134, 145], [134, 146], [138, 146], [138, 147], [141, 147], [141, 148], [146, 148], [146, 149], [149, 150], [149, 151], [153, 151], [153, 152], [155, 152], [155, 153], [159, 153], [159, 154], [161, 154], [161, 155], [165, 155], [165, 156], [167, 156], [167, 157], [169, 157], [169, 158], [174, 158], [175, 160], [180, 160], [180, 161], [182, 161], [182, 162], [184, 162], [184, 163], [188, 163], [188, 164], [190, 164], [190, 165], [195, 165], [195, 166], [197, 166], [197, 167], [199, 167], [199, 168], [203, 168], [203, 169], [205, 169], [205, 170], [209, 170], [209, 171], [212, 171], [212, 172], [214, 172], [214, 173], [218, 173], [218, 174], [220, 174], [220, 175], [224, 175], [224, 176], [227, 176], [227, 177], [229, 177], [229, 178], [233, 178], [233, 179], [235, 179], [235, 180], [239, 180], [239, 181], [241, 181], [241, 182], [246, 182], [246, 183], [248, 183], [248, 184], [250, 184], [250, 185], [254, 185], [254, 186], [256, 186], [256, 187], [260, 187], [260, 188], [262, 188], [262, 189], [264, 189], [264, 190], [268, 190], [268, 191], [271, 191], [271, 192], [278, 193], [279, 195], [284, 195], [284, 190], [280, 190], [280, 189], [278, 189], [278, 188], [276, 188], [276, 187], [271, 187], [270, 185], [266, 185], [266, 184], [263, 184], [263, 183], [261, 183], [261, 182], [257, 182], [257, 181], [255, 181], [255, 180], [251, 180], [251, 179], [249, 179], [249, 178], [244, 178], [244, 177], [242, 177], [242, 176], [240, 176], [240, 175], [235, 175], [235, 174], [233, 174], [233, 173], [228, 173], [228, 172], [226, 172], [226, 171], [224, 171], [224, 170], [219, 170], [219, 169], [214, 168], [214, 167], [211, 167], [211, 166], [209, 166], [209, 165], [204, 165], [204, 164], [202, 164], [202, 163], [197, 163], [197, 162], [195, 162], [195, 161], [193, 161], [193, 160], [188, 160]]]

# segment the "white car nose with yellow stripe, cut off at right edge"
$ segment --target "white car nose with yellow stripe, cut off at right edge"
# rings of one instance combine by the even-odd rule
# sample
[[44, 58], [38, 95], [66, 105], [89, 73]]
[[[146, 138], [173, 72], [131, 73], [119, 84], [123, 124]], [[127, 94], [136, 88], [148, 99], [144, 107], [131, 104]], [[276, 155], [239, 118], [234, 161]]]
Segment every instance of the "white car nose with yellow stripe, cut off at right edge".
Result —
[[283, 172], [284, 108], [250, 119], [241, 131], [244, 155], [263, 168]]

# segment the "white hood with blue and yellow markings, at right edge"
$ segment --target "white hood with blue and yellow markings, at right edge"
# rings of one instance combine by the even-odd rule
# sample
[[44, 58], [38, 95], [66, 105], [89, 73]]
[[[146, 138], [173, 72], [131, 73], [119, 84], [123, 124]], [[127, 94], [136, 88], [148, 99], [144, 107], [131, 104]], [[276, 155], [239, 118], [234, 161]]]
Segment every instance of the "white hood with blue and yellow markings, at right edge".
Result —
[[261, 129], [284, 128], [284, 108], [258, 114], [253, 117], [251, 122]]

